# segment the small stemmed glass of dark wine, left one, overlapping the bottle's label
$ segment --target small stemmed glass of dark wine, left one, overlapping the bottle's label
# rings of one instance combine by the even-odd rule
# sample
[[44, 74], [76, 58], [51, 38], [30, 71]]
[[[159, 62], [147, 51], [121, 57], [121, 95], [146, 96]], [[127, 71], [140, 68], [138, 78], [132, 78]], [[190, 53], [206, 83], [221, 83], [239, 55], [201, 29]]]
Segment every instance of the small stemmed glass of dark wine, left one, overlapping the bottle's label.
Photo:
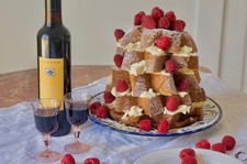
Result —
[[36, 129], [43, 133], [45, 150], [35, 155], [35, 160], [41, 163], [52, 163], [59, 161], [61, 154], [50, 150], [50, 133], [58, 128], [58, 110], [60, 101], [52, 98], [37, 99], [31, 103], [34, 112]]

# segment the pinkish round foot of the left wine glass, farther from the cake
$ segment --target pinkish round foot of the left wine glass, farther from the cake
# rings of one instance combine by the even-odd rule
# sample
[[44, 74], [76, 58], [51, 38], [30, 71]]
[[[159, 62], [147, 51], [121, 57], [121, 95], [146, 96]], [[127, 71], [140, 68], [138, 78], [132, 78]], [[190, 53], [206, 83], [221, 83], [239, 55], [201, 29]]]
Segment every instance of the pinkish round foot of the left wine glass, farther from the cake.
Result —
[[63, 155], [58, 152], [48, 151], [38, 153], [34, 157], [38, 163], [53, 163], [59, 161]]

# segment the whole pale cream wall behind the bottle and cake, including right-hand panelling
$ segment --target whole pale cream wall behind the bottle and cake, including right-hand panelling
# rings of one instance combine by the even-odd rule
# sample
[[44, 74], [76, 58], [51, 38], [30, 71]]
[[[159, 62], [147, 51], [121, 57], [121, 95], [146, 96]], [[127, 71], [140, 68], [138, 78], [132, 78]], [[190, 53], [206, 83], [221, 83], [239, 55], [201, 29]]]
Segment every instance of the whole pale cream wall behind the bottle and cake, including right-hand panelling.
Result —
[[[72, 36], [74, 65], [112, 65], [113, 31], [153, 7], [173, 10], [194, 37], [200, 64], [247, 92], [246, 0], [63, 0], [64, 23]], [[36, 67], [36, 32], [44, 0], [0, 1], [0, 74]]]

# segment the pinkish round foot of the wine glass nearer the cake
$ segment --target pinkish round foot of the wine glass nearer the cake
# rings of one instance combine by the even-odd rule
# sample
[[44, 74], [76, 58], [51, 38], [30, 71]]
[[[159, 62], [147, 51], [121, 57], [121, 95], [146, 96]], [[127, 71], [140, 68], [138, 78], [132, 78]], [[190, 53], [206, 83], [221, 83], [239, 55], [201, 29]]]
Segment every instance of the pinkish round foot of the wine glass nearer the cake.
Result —
[[89, 145], [76, 142], [65, 146], [65, 151], [70, 154], [82, 154], [90, 150]]

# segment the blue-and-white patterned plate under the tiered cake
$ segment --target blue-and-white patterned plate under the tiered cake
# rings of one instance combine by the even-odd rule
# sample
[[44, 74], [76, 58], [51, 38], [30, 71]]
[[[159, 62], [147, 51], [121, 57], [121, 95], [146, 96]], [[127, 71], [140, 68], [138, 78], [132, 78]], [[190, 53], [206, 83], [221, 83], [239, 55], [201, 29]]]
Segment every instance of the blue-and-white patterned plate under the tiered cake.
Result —
[[[92, 98], [93, 101], [100, 101], [103, 103], [103, 91], [97, 94]], [[198, 121], [191, 125], [179, 128], [179, 129], [171, 129], [168, 133], [158, 133], [156, 129], [150, 131], [142, 131], [138, 128], [127, 127], [122, 124], [115, 120], [110, 118], [106, 119], [99, 119], [93, 113], [89, 112], [89, 119], [104, 128], [111, 129], [116, 132], [132, 134], [132, 135], [143, 135], [143, 136], [176, 136], [176, 135], [184, 135], [190, 133], [200, 132], [206, 130], [213, 125], [215, 125], [222, 118], [222, 109], [216, 101], [211, 98], [206, 98], [203, 107], [203, 120]]]

